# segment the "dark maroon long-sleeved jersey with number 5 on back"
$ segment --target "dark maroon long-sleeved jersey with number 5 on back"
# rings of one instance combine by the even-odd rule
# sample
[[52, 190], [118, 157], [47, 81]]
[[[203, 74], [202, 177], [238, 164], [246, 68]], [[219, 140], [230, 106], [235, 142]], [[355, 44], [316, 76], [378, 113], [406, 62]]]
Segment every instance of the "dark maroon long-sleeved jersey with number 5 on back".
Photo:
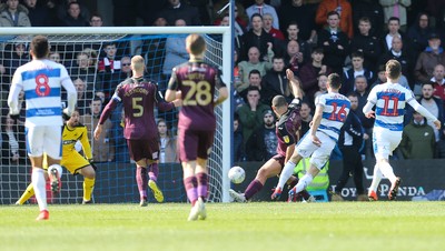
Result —
[[142, 78], [130, 78], [116, 88], [111, 101], [103, 109], [100, 123], [108, 119], [119, 101], [123, 103], [125, 112], [123, 138], [130, 140], [157, 139], [155, 106], [160, 110], [170, 110], [175, 107], [165, 102], [155, 82]]

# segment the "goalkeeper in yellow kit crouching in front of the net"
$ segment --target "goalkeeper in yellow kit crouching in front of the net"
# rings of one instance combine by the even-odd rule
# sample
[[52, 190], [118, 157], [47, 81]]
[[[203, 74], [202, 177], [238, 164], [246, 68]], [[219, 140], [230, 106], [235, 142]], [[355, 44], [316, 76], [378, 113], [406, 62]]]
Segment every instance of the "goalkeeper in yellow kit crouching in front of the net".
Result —
[[[66, 121], [62, 132], [62, 159], [60, 165], [65, 167], [72, 174], [83, 175], [83, 200], [82, 204], [91, 203], [91, 193], [95, 188], [96, 171], [93, 164], [91, 164], [92, 154], [91, 147], [88, 141], [87, 127], [79, 123], [79, 111], [75, 111], [69, 120]], [[76, 143], [80, 141], [82, 144], [83, 158], [77, 150]], [[48, 169], [47, 155], [43, 159], [43, 169]], [[61, 177], [61, 173], [59, 174]], [[58, 188], [52, 188], [53, 192], [60, 190], [60, 181]], [[32, 183], [30, 183], [27, 190], [23, 192], [21, 198], [16, 202], [16, 204], [23, 204], [29, 198], [34, 194], [34, 189]]]

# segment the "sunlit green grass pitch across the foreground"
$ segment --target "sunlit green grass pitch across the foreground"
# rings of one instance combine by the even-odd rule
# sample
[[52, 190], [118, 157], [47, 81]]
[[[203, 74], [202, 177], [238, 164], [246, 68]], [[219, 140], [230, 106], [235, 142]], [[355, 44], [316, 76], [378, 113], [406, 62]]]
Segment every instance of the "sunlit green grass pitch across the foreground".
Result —
[[0, 205], [0, 250], [445, 250], [445, 202]]

